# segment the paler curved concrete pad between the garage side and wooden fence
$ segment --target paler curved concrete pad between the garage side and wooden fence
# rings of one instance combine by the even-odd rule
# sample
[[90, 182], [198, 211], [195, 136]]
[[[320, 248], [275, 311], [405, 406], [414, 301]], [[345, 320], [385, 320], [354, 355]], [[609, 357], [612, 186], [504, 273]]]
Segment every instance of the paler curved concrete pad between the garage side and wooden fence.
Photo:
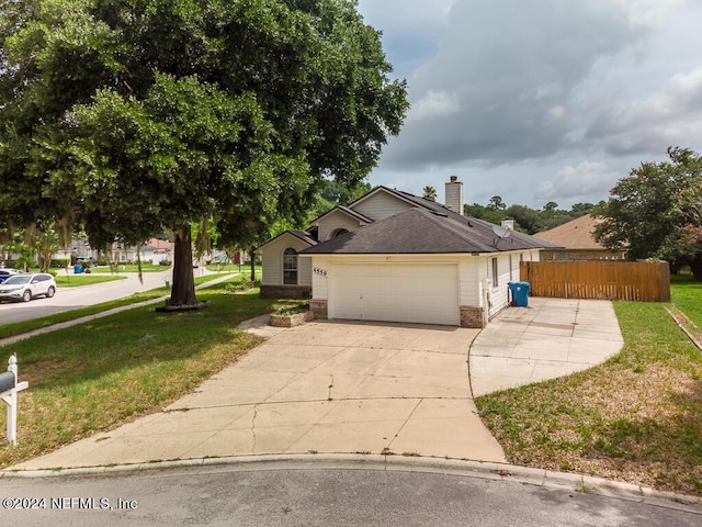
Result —
[[471, 347], [473, 396], [564, 377], [624, 345], [611, 302], [530, 298], [502, 311]]

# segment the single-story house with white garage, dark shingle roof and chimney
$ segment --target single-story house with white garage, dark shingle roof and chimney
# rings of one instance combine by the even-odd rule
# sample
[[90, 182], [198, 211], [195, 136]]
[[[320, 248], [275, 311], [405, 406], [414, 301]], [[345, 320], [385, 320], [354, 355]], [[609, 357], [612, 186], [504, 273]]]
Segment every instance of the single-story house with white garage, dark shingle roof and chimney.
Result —
[[271, 239], [261, 294], [308, 298], [318, 318], [485, 327], [509, 305], [519, 262], [553, 244], [463, 215], [463, 183], [446, 205], [376, 187], [307, 231]]

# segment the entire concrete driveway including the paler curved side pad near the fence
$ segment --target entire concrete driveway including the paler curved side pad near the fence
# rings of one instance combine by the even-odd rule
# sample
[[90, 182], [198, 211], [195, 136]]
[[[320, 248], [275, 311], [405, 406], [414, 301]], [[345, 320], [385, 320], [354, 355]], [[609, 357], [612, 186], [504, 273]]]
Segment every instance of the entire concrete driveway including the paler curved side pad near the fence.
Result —
[[268, 340], [195, 392], [9, 470], [309, 452], [505, 462], [473, 393], [585, 368], [622, 343], [609, 302], [530, 301], [483, 332], [332, 321], [281, 329], [268, 317], [250, 321], [246, 329]]

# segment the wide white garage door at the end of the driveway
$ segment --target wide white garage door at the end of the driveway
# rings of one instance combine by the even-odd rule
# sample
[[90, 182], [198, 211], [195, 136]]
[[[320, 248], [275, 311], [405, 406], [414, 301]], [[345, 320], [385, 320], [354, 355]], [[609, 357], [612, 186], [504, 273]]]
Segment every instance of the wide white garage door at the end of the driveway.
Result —
[[460, 325], [457, 265], [335, 265], [329, 271], [329, 318]]

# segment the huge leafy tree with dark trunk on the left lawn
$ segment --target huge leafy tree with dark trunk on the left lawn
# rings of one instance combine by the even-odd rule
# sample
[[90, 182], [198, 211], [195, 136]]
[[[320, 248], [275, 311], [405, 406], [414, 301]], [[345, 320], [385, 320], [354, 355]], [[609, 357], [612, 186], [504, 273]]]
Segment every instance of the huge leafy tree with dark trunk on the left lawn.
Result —
[[[407, 110], [353, 0], [0, 0], [0, 220], [91, 245], [249, 242], [356, 186]], [[239, 239], [237, 239], [239, 238]]]

